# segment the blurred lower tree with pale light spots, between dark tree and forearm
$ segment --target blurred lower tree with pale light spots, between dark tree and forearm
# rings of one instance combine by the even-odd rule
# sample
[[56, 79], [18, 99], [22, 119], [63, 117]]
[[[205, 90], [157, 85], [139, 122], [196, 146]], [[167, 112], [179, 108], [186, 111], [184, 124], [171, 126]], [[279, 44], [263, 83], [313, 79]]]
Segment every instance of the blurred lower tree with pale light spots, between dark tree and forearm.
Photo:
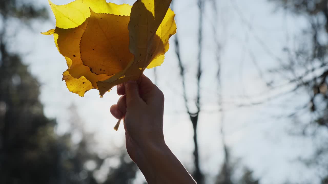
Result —
[[[98, 182], [104, 184], [128, 184], [135, 178], [135, 174], [138, 170], [137, 165], [130, 159], [126, 152], [121, 153], [115, 151], [112, 155], [99, 156], [94, 145], [97, 143], [94, 141], [94, 134], [87, 132], [84, 127], [84, 122], [79, 118], [76, 107], [72, 105], [70, 111], [70, 125], [71, 128], [64, 137], [66, 142], [70, 144], [70, 150], [65, 150], [63, 155], [61, 171], [66, 173], [66, 177], [74, 176], [74, 183], [94, 183], [96, 178]], [[79, 135], [81, 138], [77, 143], [72, 142], [72, 137]], [[118, 152], [118, 153], [117, 153]], [[112, 162], [114, 163], [113, 166]], [[91, 168], [88, 168], [88, 163], [92, 164]], [[70, 172], [70, 173], [68, 173]], [[101, 176], [98, 178], [98, 176]], [[66, 178], [64, 176], [64, 178]], [[82, 178], [81, 178], [82, 177]]]

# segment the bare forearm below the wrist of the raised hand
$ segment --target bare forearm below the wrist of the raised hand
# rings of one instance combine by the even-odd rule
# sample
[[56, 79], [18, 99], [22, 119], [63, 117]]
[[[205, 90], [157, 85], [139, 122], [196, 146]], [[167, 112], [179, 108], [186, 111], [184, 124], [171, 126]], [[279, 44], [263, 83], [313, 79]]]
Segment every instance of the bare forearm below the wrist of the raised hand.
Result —
[[137, 165], [149, 184], [196, 183], [165, 143], [148, 145], [142, 153]]

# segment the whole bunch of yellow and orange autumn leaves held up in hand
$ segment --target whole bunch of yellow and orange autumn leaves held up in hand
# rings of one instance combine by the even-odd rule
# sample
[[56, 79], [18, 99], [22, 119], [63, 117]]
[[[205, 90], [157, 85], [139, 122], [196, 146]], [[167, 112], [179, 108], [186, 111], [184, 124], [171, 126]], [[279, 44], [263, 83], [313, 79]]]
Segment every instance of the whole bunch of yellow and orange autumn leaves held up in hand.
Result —
[[159, 66], [176, 33], [172, 0], [137, 0], [133, 6], [106, 0], [49, 1], [56, 28], [53, 35], [68, 69], [67, 88], [84, 96], [90, 89], [104, 95], [113, 86], [138, 80], [146, 68]]

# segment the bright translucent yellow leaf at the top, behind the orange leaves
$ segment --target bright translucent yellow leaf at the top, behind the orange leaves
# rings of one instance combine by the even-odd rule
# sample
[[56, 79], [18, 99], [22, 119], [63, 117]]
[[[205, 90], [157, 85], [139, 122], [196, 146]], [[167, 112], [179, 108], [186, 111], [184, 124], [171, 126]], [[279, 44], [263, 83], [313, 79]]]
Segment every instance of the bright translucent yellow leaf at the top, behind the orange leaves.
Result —
[[90, 8], [96, 13], [111, 13], [130, 16], [131, 6], [116, 5], [106, 0], [75, 0], [67, 5], [55, 5], [48, 0], [56, 18], [56, 27], [75, 28], [90, 17]]

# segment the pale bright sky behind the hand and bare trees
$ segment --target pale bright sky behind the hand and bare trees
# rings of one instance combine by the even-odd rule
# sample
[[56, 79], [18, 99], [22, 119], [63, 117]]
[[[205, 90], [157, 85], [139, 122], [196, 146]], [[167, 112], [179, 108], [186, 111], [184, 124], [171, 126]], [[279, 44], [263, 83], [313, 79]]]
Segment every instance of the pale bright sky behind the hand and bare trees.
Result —
[[[46, 0], [34, 1], [35, 4], [46, 6], [51, 11]], [[70, 0], [52, 2], [66, 4]], [[111, 2], [132, 4], [133, 0]], [[293, 129], [293, 122], [287, 118], [275, 118], [292, 112], [297, 105], [306, 103], [306, 94], [290, 94], [263, 105], [237, 107], [240, 104], [262, 101], [288, 90], [287, 87], [269, 92], [265, 82], [273, 80], [274, 76], [266, 74], [265, 70], [277, 66], [276, 57], [286, 58], [282, 48], [292, 46], [295, 41], [293, 36], [299, 34], [307, 24], [302, 18], [282, 11], [275, 12], [275, 7], [275, 4], [266, 0], [217, 1], [218, 17], [213, 17], [211, 3], [206, 4], [202, 48], [202, 112], [199, 119], [198, 141], [201, 169], [207, 175], [208, 183], [213, 183], [213, 178], [218, 174], [222, 164], [222, 123], [227, 144], [234, 158], [240, 158], [241, 164], [253, 169], [255, 176], [261, 177], [261, 183], [279, 184], [287, 179], [292, 183], [319, 182], [318, 173], [321, 171], [306, 168], [297, 162], [298, 157], [311, 154], [311, 139], [290, 136], [289, 131]], [[196, 93], [198, 31], [196, 0], [175, 1], [174, 10], [182, 60], [187, 70], [188, 96], [193, 101]], [[28, 28], [19, 30], [15, 40], [12, 40], [12, 49], [18, 49], [24, 54], [24, 62], [30, 65], [29, 69], [42, 83], [40, 99], [45, 104], [46, 115], [57, 119], [58, 132], [67, 130], [66, 122], [70, 116], [68, 108], [75, 104], [79, 116], [84, 120], [86, 130], [95, 132], [99, 150], [111, 152], [113, 147], [124, 145], [124, 130], [122, 127], [118, 132], [113, 130], [117, 120], [109, 113], [110, 106], [118, 100], [116, 90], [105, 94], [102, 99], [99, 98], [97, 90], [87, 92], [84, 98], [68, 91], [65, 83], [61, 81], [62, 72], [67, 69], [63, 56], [57, 51], [52, 36], [39, 34], [54, 28], [55, 19], [52, 14], [50, 15], [50, 21], [33, 22], [33, 31]], [[217, 36], [222, 44], [223, 122], [217, 105], [217, 64], [213, 24], [217, 24]], [[260, 77], [255, 63], [264, 72], [264, 76]], [[173, 44], [164, 64], [158, 67], [157, 71], [158, 86], [166, 99], [164, 129], [167, 144], [185, 166], [192, 169], [192, 125], [183, 104]], [[154, 79], [153, 72], [147, 70], [145, 74]], [[193, 107], [193, 103], [190, 105]], [[308, 118], [302, 116], [302, 120], [306, 121]], [[139, 183], [139, 179], [136, 183]]]

